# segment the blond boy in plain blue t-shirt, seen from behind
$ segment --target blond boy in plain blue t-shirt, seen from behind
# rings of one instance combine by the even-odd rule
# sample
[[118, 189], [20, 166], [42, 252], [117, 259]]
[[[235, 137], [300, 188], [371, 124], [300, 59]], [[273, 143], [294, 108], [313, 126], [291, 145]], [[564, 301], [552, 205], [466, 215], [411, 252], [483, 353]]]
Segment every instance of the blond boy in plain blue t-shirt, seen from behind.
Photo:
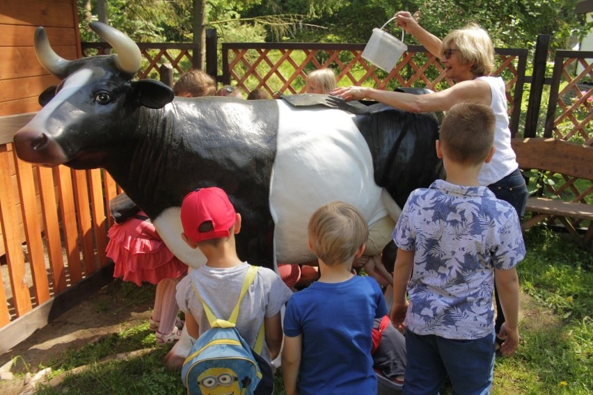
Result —
[[368, 239], [366, 220], [351, 204], [331, 202], [313, 213], [308, 234], [321, 275], [286, 305], [286, 394], [377, 394], [371, 332], [387, 307], [372, 277], [351, 273]]

